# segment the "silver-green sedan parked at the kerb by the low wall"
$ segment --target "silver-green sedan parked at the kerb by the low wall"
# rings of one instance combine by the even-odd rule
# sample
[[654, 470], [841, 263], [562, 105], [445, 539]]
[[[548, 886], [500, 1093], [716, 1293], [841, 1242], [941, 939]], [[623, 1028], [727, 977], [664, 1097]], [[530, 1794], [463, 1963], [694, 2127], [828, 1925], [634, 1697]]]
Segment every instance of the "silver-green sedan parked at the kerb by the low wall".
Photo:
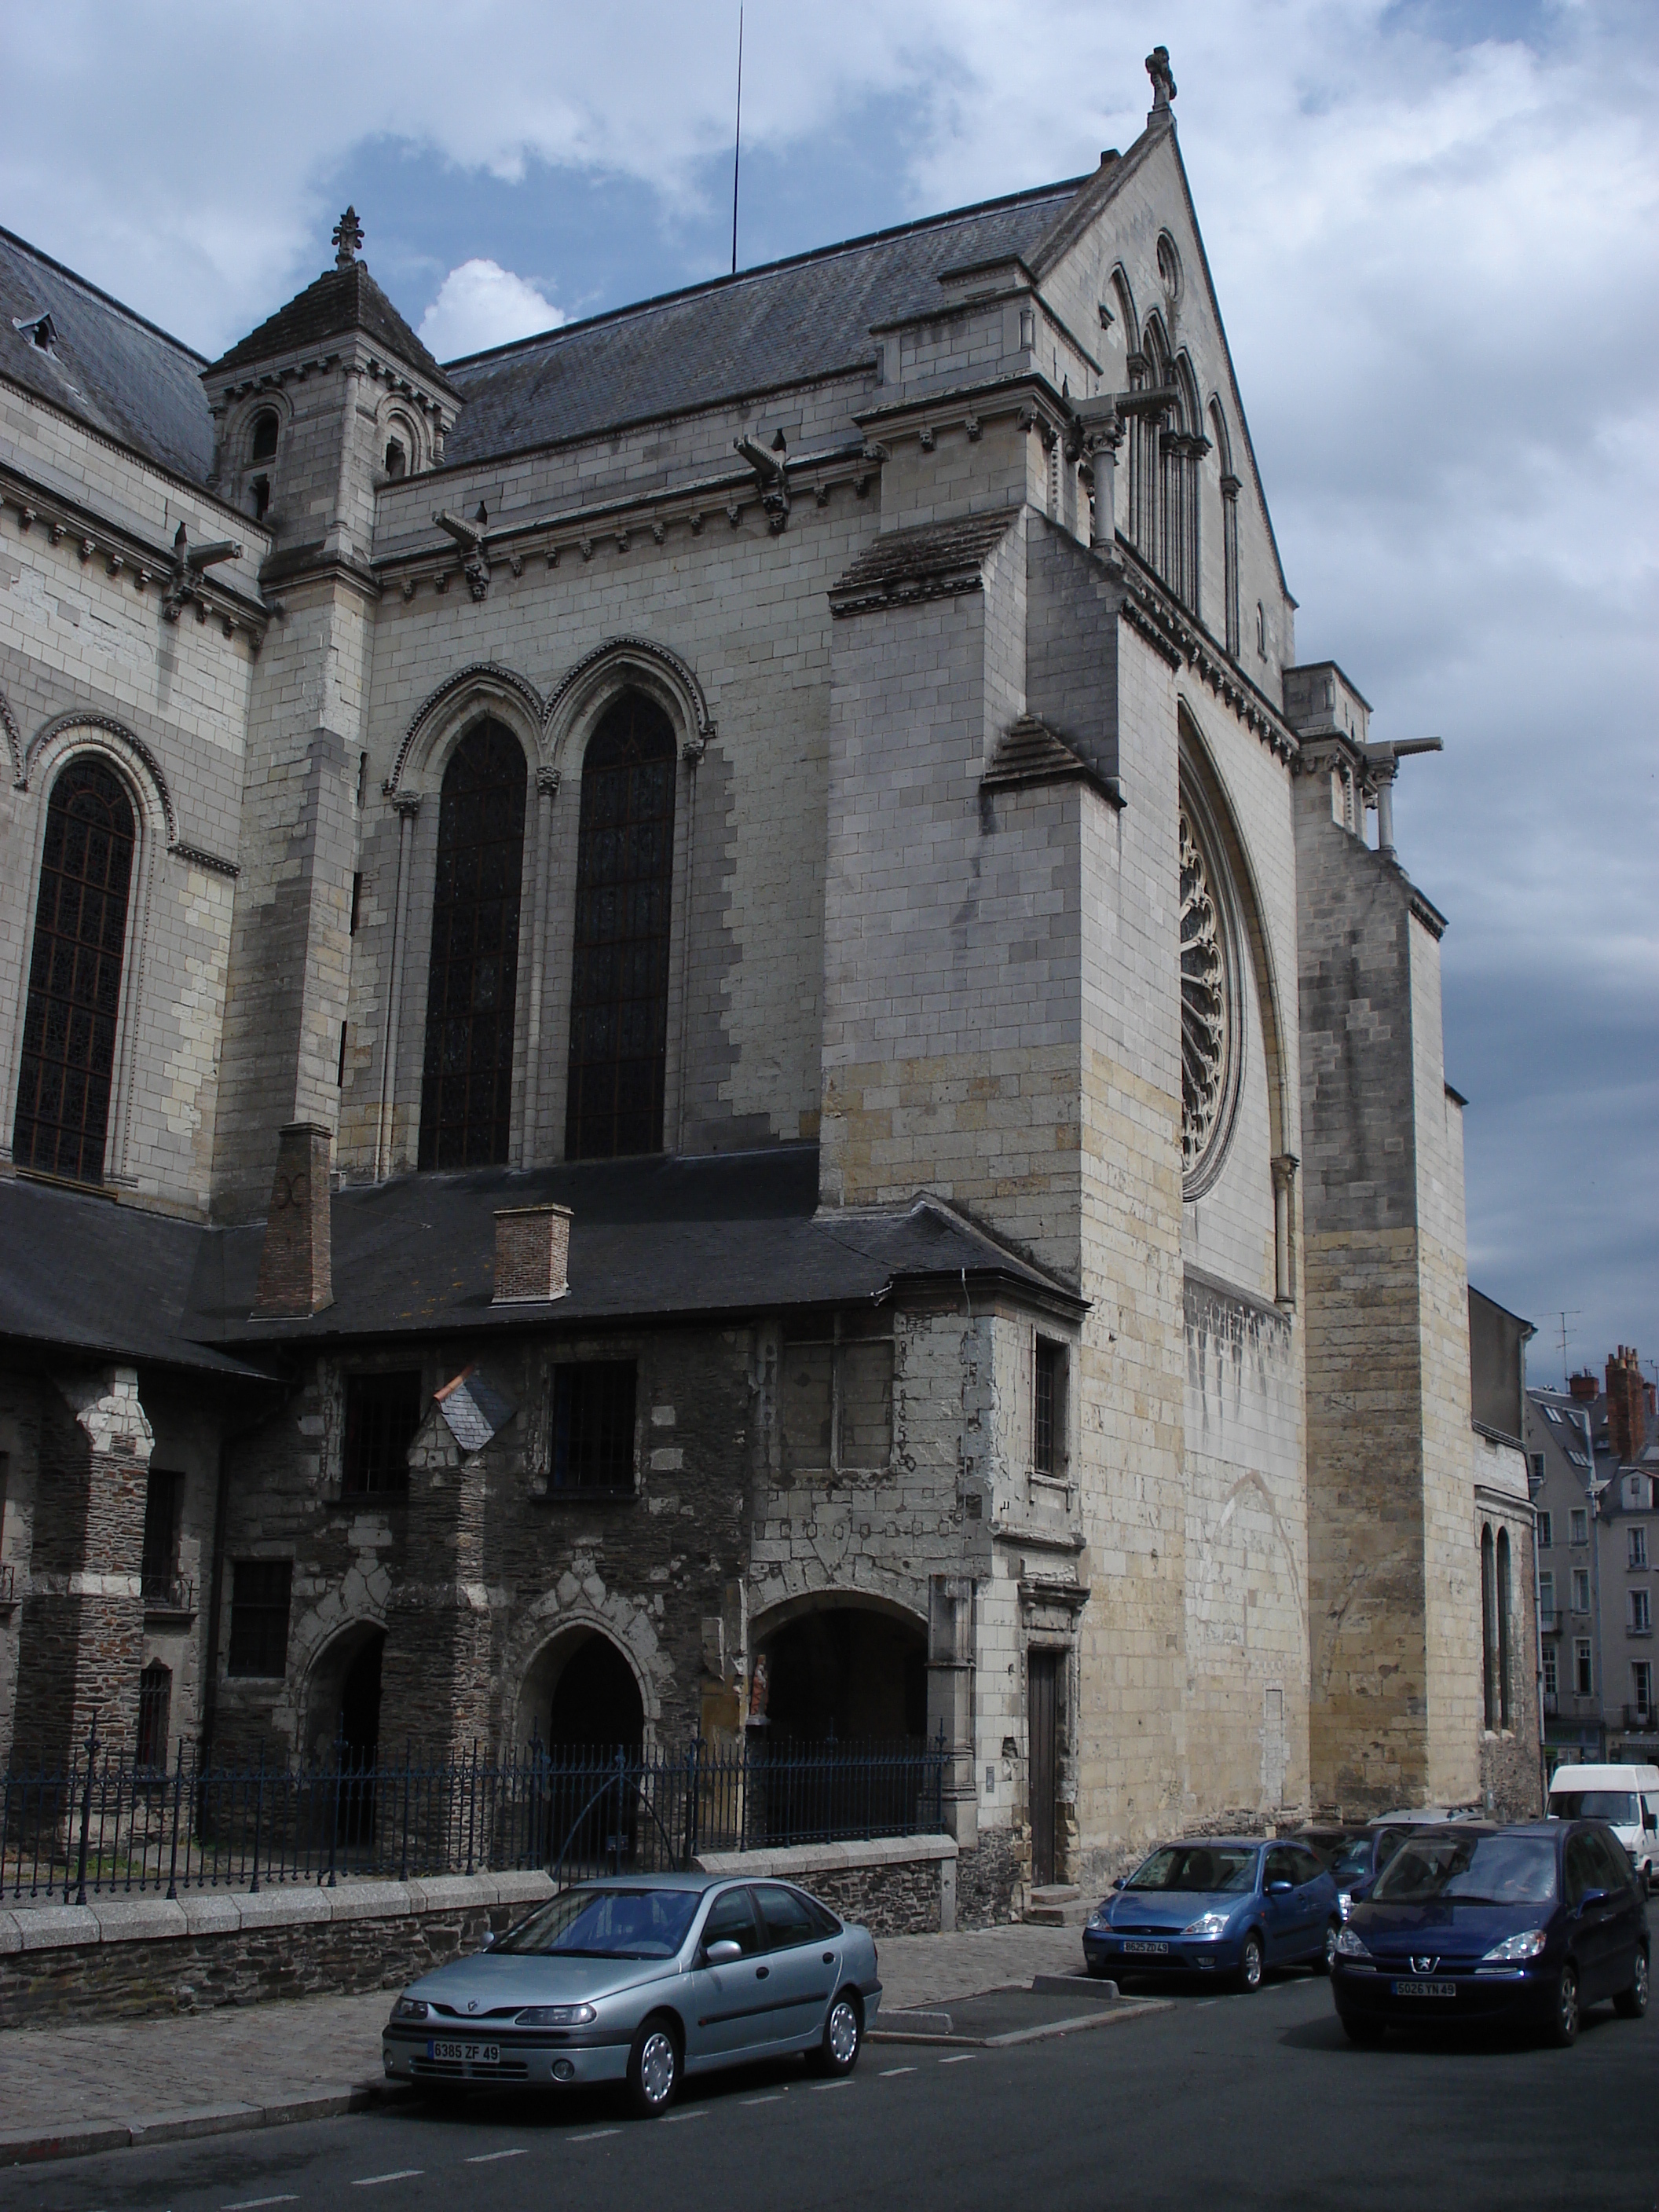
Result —
[[880, 1982], [869, 1929], [790, 1882], [650, 1874], [582, 1882], [392, 2006], [394, 2081], [622, 2081], [635, 2112], [719, 2066], [858, 2064]]

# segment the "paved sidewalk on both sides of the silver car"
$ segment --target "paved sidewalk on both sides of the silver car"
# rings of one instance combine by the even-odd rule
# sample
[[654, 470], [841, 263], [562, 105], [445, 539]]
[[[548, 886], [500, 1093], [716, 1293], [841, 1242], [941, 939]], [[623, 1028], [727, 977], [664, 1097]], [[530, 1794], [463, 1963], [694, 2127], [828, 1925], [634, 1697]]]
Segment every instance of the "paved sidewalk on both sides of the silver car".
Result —
[[[1082, 1958], [1077, 1929], [1009, 1927], [880, 1942], [883, 2008], [1031, 1984]], [[0, 2168], [327, 2119], [383, 2090], [394, 1991], [294, 1997], [177, 2020], [11, 2028], [0, 2035]], [[181, 2086], [190, 2101], [179, 2101]]]

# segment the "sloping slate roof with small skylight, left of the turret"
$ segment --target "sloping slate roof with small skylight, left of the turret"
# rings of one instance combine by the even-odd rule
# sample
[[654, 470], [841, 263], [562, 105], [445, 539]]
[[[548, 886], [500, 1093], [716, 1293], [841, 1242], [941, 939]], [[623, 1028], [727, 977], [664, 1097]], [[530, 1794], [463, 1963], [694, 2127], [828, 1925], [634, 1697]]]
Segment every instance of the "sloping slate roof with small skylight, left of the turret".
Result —
[[[51, 352], [15, 327], [40, 314], [51, 316], [58, 334]], [[164, 469], [206, 484], [212, 416], [197, 380], [204, 367], [201, 354], [0, 230], [2, 374]]]

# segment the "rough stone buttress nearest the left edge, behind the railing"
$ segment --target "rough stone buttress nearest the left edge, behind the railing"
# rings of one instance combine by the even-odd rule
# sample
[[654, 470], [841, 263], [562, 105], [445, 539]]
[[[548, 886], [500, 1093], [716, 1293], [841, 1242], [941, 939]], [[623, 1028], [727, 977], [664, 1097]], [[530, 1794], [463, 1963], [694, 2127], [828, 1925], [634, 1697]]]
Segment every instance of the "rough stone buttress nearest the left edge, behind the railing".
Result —
[[42, 1391], [40, 1480], [18, 1639], [22, 1767], [58, 1770], [97, 1714], [133, 1750], [144, 1668], [144, 1493], [150, 1422], [133, 1367], [55, 1376]]

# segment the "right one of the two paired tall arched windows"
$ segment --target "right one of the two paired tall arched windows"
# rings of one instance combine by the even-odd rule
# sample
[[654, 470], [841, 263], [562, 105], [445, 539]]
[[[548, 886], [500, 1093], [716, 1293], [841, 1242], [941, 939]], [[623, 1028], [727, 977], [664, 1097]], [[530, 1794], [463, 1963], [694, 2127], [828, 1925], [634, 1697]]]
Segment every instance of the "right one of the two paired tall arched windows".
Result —
[[675, 732], [624, 692], [582, 763], [566, 1159], [661, 1150]]

